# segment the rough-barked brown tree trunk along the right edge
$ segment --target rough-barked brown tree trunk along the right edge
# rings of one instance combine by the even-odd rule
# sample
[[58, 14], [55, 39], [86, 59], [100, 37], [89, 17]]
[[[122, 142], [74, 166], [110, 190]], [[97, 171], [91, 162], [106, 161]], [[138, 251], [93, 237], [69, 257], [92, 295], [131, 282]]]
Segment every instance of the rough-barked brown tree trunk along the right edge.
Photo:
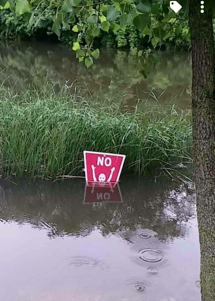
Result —
[[215, 69], [212, 10], [189, 0], [192, 42], [193, 154], [201, 247], [202, 301], [215, 300]]

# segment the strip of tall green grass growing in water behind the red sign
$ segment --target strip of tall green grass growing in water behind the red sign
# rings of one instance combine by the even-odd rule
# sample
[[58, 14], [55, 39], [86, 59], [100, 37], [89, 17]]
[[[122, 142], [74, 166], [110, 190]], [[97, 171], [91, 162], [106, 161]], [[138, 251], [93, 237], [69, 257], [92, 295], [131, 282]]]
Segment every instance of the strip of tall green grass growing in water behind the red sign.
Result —
[[[190, 113], [159, 105], [126, 112], [69, 93], [0, 91], [0, 165], [5, 176], [82, 175], [83, 151], [126, 155], [124, 172], [190, 162]], [[78, 101], [77, 101], [78, 100]]]

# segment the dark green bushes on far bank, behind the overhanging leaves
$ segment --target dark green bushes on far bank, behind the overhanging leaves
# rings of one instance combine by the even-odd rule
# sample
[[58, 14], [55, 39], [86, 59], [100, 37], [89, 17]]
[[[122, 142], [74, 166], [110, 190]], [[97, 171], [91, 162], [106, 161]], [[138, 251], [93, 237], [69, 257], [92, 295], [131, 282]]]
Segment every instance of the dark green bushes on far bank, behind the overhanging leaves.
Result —
[[[23, 14], [15, 14], [12, 5], [17, 5], [17, 3], [24, 2], [25, 0], [18, 0], [13, 3], [9, 0], [0, 0], [0, 5], [5, 5], [10, 3], [10, 7], [0, 10], [0, 38], [3, 40], [20, 40], [20, 39], [39, 39], [39, 40], [58, 40], [56, 30], [53, 29], [53, 20], [56, 16], [56, 6], [50, 6], [50, 1], [33, 1], [31, 0], [31, 7], [29, 12]], [[26, 0], [27, 1], [27, 0]], [[81, 3], [89, 3], [92, 1], [80, 1]], [[97, 1], [96, 1], [97, 2]], [[109, 1], [110, 3], [112, 1]], [[136, 1], [126, 1], [129, 6], [135, 7]], [[126, 3], [125, 2], [125, 3]], [[144, 2], [144, 0], [143, 0]], [[12, 4], [11, 4], [12, 3]], [[128, 5], [126, 3], [126, 5]], [[30, 26], [29, 20], [31, 16], [37, 20], [32, 26]], [[73, 26], [80, 24], [83, 16], [79, 13], [75, 15], [68, 12], [66, 14], [66, 27], [61, 26], [61, 33], [59, 35], [59, 40], [65, 44], [72, 45], [76, 41], [77, 32], [72, 31]], [[159, 16], [153, 20], [156, 24], [159, 22]], [[31, 20], [30, 20], [31, 21]], [[174, 21], [174, 18], [172, 20]], [[121, 24], [120, 17], [115, 20], [116, 23]], [[154, 25], [156, 26], [156, 25]], [[55, 33], [54, 33], [55, 31]], [[177, 30], [174, 30], [169, 38], [161, 43], [162, 48], [177, 48], [177, 49], [189, 49], [190, 39], [187, 21], [183, 21]], [[100, 30], [98, 36], [94, 38], [94, 45], [99, 48], [129, 48], [134, 47], [152, 47], [153, 43], [149, 35], [139, 31], [132, 23], [120, 26], [117, 31], [112, 30]]]

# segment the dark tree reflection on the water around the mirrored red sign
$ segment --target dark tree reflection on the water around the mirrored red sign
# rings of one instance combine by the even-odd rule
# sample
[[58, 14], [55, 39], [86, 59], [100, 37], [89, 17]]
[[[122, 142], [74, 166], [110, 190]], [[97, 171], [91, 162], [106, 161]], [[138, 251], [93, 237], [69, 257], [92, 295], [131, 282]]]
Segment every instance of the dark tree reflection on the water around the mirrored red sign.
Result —
[[[194, 214], [193, 192], [170, 183], [123, 180], [123, 203], [83, 204], [84, 182], [18, 181], [4, 183], [0, 217], [47, 228], [49, 235], [88, 235], [94, 227], [104, 235], [136, 228], [156, 231], [159, 239], [184, 236], [186, 221]], [[174, 191], [175, 197], [170, 191]], [[177, 199], [183, 195], [188, 201]], [[165, 206], [168, 205], [168, 211]], [[21, 212], [21, 213], [19, 213]]]

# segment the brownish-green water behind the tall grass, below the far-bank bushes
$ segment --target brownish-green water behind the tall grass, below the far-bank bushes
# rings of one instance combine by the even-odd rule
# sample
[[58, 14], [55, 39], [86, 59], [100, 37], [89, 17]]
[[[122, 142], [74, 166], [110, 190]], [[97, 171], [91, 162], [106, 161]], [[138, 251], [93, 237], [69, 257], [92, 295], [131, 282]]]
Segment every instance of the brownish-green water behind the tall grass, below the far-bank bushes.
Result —
[[[87, 95], [88, 101], [113, 101], [131, 107], [137, 103], [141, 107], [146, 101], [183, 109], [190, 106], [192, 69], [188, 53], [164, 52], [147, 79], [139, 73], [142, 69], [141, 61], [120, 50], [101, 50], [100, 58], [87, 69], [77, 61], [71, 47], [48, 42], [0, 45], [0, 81], [10, 89], [24, 90], [32, 82], [40, 89], [47, 82], [75, 82], [75, 93]], [[58, 88], [56, 84], [55, 91]]]

